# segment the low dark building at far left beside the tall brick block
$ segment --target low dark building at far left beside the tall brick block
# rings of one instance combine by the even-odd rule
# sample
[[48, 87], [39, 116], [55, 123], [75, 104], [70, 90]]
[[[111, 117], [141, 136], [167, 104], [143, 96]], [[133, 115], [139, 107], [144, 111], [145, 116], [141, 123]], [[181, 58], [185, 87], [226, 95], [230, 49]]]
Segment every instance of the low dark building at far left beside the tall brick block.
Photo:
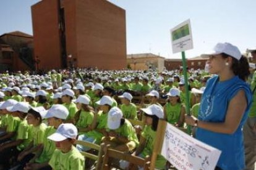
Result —
[[33, 36], [14, 31], [0, 36], [0, 71], [34, 70]]

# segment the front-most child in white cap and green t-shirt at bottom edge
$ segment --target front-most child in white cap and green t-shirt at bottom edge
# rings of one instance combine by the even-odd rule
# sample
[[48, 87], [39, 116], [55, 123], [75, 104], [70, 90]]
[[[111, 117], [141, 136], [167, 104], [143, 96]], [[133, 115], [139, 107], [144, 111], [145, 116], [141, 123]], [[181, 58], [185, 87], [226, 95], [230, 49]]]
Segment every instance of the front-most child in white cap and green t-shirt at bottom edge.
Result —
[[49, 165], [54, 170], [62, 169], [85, 169], [85, 159], [83, 155], [74, 147], [77, 137], [77, 127], [74, 124], [61, 124], [57, 131], [48, 137], [53, 140], [57, 146]]

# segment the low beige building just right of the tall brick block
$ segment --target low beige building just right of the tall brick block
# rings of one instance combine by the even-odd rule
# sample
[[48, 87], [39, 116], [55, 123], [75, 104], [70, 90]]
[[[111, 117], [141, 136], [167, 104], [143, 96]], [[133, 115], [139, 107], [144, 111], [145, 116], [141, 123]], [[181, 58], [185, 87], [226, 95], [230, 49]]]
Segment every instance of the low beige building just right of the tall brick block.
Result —
[[151, 53], [127, 55], [127, 67], [132, 70], [164, 69], [164, 57]]

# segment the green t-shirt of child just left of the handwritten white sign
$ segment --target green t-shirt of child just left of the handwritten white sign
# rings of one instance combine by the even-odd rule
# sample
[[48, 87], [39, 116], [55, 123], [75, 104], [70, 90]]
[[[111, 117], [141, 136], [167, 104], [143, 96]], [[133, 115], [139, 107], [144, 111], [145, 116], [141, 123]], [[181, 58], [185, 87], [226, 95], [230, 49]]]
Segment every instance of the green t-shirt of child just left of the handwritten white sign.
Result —
[[[151, 129], [151, 126], [145, 126], [142, 131], [142, 137], [146, 139], [145, 148], [142, 151], [142, 157], [145, 158], [147, 155], [151, 156], [153, 153], [153, 146], [156, 137], [156, 131]], [[166, 160], [163, 156], [158, 155], [156, 158], [155, 168], [156, 169], [164, 169], [166, 164]]]

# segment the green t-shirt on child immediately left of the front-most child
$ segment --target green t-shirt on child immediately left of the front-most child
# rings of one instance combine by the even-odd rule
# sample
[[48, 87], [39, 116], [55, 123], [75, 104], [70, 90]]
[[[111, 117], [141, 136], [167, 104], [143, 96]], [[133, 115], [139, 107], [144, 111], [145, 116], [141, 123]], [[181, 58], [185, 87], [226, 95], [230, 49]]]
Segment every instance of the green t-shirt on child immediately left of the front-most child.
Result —
[[51, 159], [51, 155], [53, 155], [56, 145], [53, 140], [49, 140], [47, 137], [54, 134], [54, 132], [56, 132], [56, 129], [53, 126], [46, 127], [45, 136], [43, 137], [43, 152], [36, 158], [36, 163], [46, 163]]

